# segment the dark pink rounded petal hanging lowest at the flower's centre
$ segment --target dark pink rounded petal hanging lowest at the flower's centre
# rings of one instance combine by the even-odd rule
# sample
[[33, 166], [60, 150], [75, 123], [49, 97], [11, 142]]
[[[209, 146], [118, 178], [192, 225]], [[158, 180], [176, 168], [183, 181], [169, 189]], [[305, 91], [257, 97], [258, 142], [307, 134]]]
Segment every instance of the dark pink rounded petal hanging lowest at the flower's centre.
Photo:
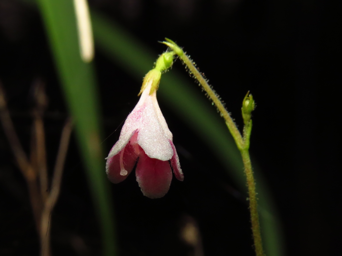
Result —
[[135, 175], [144, 196], [160, 198], [169, 191], [172, 179], [169, 161], [150, 158], [142, 148]]

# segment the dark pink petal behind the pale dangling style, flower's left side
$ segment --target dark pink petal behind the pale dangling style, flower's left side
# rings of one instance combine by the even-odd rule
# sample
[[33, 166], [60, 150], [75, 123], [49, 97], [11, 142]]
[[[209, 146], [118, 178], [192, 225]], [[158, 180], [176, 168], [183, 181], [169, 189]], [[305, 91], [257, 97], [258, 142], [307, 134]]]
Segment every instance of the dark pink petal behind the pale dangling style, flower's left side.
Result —
[[[121, 167], [120, 167], [120, 155], [123, 151], [122, 163], [124, 169], [127, 171], [126, 175], [121, 175]], [[107, 159], [106, 162], [106, 173], [108, 179], [113, 183], [119, 183], [127, 178], [127, 176], [133, 170], [135, 165], [137, 155], [135, 154], [134, 147], [128, 143], [119, 153]]]

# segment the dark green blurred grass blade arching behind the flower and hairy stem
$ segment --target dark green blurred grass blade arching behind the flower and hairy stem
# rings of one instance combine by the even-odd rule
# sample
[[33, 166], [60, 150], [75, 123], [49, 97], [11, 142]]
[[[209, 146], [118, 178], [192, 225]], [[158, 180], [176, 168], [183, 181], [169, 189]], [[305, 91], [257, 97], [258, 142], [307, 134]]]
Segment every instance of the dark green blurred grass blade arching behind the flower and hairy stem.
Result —
[[[117, 26], [113, 21], [92, 12], [95, 44], [110, 59], [141, 81], [157, 55]], [[158, 90], [160, 98], [183, 119], [211, 148], [223, 166], [233, 176], [240, 189], [246, 189], [246, 177], [240, 153], [229, 134], [224, 120], [201, 95], [172, 70], [163, 75]], [[255, 161], [253, 161], [255, 166]], [[284, 255], [280, 223], [264, 179], [254, 168], [259, 196], [260, 223], [267, 256]]]

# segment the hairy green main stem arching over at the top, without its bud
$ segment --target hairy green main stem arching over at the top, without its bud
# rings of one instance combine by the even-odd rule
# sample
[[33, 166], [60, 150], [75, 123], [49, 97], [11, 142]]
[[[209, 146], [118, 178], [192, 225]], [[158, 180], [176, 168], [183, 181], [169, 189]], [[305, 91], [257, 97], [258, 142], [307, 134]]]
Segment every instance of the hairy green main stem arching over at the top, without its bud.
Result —
[[169, 46], [185, 63], [188, 67], [190, 73], [198, 80], [200, 85], [205, 89], [207, 95], [214, 102], [216, 107], [221, 113], [221, 116], [224, 118], [226, 125], [231, 132], [235, 143], [240, 150], [242, 161], [245, 167], [245, 173], [247, 177], [247, 186], [248, 186], [248, 194], [249, 194], [249, 209], [251, 214], [251, 224], [252, 224], [252, 233], [254, 239], [254, 247], [255, 254], [257, 256], [264, 256], [263, 248], [262, 248], [262, 240], [260, 233], [260, 224], [259, 224], [259, 214], [258, 214], [258, 203], [255, 192], [255, 182], [253, 177], [252, 165], [249, 156], [249, 138], [252, 129], [252, 121], [249, 120], [247, 124], [244, 126], [244, 134], [241, 136], [240, 131], [235, 125], [232, 117], [229, 115], [228, 111], [225, 109], [218, 95], [216, 95], [215, 91], [210, 87], [207, 83], [207, 80], [202, 76], [202, 74], [198, 71], [198, 69], [194, 66], [194, 62], [189, 59], [189, 57], [183, 52], [183, 50], [170, 39], [166, 39], [167, 42], [163, 42], [167, 46]]

